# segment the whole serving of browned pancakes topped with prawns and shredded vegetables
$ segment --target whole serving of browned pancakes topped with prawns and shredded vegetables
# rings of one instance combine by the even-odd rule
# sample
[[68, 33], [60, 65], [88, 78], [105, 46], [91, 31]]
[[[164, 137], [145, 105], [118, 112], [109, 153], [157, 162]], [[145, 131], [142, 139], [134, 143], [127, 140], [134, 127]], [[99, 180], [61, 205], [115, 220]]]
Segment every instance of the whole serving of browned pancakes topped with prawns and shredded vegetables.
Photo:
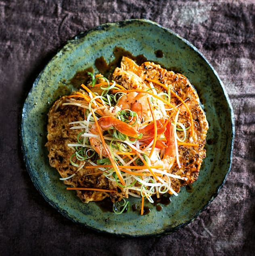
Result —
[[[100, 76], [94, 77], [94, 84], [90, 83], [88, 87], [83, 85], [85, 91], [74, 91], [71, 96], [58, 99], [48, 113], [46, 147], [49, 162], [59, 171], [61, 178], [65, 179], [63, 182], [75, 188], [94, 188], [95, 190], [77, 189], [77, 196], [83, 202], [101, 201], [110, 197], [115, 203], [129, 195], [145, 195], [150, 201], [151, 195], [157, 194], [159, 197], [161, 190], [176, 194], [181, 186], [197, 180], [206, 155], [204, 146], [208, 123], [199, 96], [188, 79], [153, 62], [147, 61], [138, 66], [127, 57], [122, 58], [120, 68], [116, 68], [111, 76], [118, 87], [114, 87], [114, 83], [109, 90], [99, 87], [105, 84], [110, 86], [109, 81], [99, 78]], [[117, 91], [121, 96], [114, 98], [109, 95], [106, 97], [105, 94], [104, 98], [94, 95], [92, 91], [107, 91], [109, 95], [114, 95]], [[152, 92], [155, 93], [153, 99]], [[167, 95], [168, 101], [161, 99], [165, 97], [162, 95]], [[114, 98], [115, 103], [106, 107], [102, 98], [109, 102]], [[90, 114], [87, 113], [88, 110]], [[96, 117], [98, 122], [90, 121], [92, 112], [96, 113], [94, 119]], [[124, 112], [125, 115], [129, 113], [128, 118], [119, 114]], [[110, 123], [107, 124], [106, 120]], [[73, 122], [80, 122], [80, 126]], [[133, 142], [134, 138], [126, 137], [133, 130], [140, 133], [140, 137], [135, 139], [136, 143]], [[79, 134], [89, 138], [86, 146], [85, 141], [83, 146], [77, 144]], [[170, 140], [168, 136], [173, 134], [174, 138]], [[111, 142], [107, 141], [109, 136], [113, 136]], [[154, 142], [156, 139], [157, 142]], [[87, 147], [87, 152], [94, 150], [97, 156], [94, 163], [90, 160], [79, 161], [75, 146], [70, 144]], [[146, 152], [142, 151], [144, 148]], [[142, 163], [134, 161], [139, 158]], [[171, 159], [169, 166], [166, 159]], [[98, 163], [107, 163], [107, 168]], [[91, 166], [92, 164], [96, 167]], [[121, 167], [126, 164], [130, 168]], [[98, 189], [102, 191], [97, 191]]]

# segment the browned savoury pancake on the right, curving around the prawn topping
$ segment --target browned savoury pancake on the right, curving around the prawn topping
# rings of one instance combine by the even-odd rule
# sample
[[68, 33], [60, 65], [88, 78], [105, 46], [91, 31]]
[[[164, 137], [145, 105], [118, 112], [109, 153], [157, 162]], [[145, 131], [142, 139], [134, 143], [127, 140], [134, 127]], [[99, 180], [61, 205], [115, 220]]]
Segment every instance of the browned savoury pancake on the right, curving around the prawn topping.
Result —
[[[175, 163], [172, 172], [177, 175], [182, 175], [187, 177], [187, 181], [183, 181], [180, 179], [172, 179], [172, 186], [174, 190], [178, 193], [180, 191], [180, 186], [185, 186], [187, 184], [192, 184], [195, 180], [197, 180], [199, 176], [199, 170], [201, 167], [201, 163], [206, 156], [204, 146], [206, 144], [206, 134], [208, 130], [208, 122], [205, 116], [205, 112], [203, 111], [199, 96], [194, 89], [194, 87], [190, 84], [188, 78], [186, 78], [182, 74], [176, 74], [173, 71], [167, 71], [164, 68], [161, 68], [160, 65], [157, 65], [153, 62], [144, 62], [141, 66], [138, 66], [132, 59], [128, 57], [123, 57], [121, 60], [121, 68], [116, 68], [113, 73], [113, 80], [115, 80], [120, 85], [125, 86], [126, 72], [133, 72], [145, 83], [149, 83], [149, 80], [146, 78], [158, 81], [164, 85], [168, 85], [176, 95], [178, 95], [181, 99], [186, 100], [186, 106], [192, 113], [192, 118], [194, 122], [194, 132], [190, 134], [190, 129], [186, 131], [189, 142], [195, 143], [198, 146], [184, 146], [179, 145], [179, 156], [181, 168], [177, 167]], [[154, 83], [154, 86], [163, 91], [164, 89]], [[182, 102], [178, 97], [172, 96], [171, 103], [173, 105], [178, 106]], [[190, 127], [190, 116], [188, 114], [187, 108], [182, 104], [180, 107], [179, 119], [180, 122], [185, 125], [185, 127]]]

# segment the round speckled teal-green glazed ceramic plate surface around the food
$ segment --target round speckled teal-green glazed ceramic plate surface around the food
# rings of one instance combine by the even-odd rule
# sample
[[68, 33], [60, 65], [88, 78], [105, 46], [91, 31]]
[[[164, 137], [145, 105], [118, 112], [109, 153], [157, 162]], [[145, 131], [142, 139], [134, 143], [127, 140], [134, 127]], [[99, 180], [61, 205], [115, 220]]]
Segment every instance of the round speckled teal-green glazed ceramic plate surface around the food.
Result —
[[[101, 56], [107, 63], [113, 50], [121, 47], [132, 55], [174, 68], [184, 74], [196, 88], [207, 120], [207, 157], [192, 193], [185, 187], [161, 211], [150, 203], [149, 214], [139, 211], [116, 215], [105, 212], [97, 203], [82, 203], [75, 191], [59, 180], [56, 169], [48, 163], [46, 143], [47, 113], [60, 95], [71, 92], [70, 84], [77, 71], [92, 67]], [[158, 54], [161, 53], [161, 54]], [[107, 23], [69, 40], [49, 61], [29, 91], [21, 117], [21, 142], [27, 170], [44, 199], [72, 221], [96, 231], [120, 236], [151, 236], [172, 233], [192, 222], [213, 201], [223, 186], [232, 160], [234, 117], [232, 106], [217, 73], [201, 53], [188, 41], [157, 23], [132, 19]], [[140, 199], [130, 198], [130, 205]]]

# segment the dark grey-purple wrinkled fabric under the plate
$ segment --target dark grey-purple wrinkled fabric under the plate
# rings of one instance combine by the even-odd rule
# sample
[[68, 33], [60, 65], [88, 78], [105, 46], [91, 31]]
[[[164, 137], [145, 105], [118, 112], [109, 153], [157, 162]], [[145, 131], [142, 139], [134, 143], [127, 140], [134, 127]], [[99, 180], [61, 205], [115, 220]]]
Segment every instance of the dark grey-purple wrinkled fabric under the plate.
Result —
[[[73, 224], [33, 186], [19, 143], [27, 91], [56, 49], [106, 22], [146, 18], [194, 44], [223, 80], [234, 108], [232, 170], [189, 226], [152, 238], [120, 238]], [[254, 0], [0, 1], [1, 255], [254, 255]]]

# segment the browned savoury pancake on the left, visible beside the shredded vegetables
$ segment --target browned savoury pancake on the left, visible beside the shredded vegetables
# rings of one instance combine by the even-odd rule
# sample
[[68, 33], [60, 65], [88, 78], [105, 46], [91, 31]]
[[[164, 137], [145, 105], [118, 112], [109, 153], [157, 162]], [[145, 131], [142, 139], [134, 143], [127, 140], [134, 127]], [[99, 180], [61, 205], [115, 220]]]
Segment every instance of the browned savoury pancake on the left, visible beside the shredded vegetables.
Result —
[[[46, 147], [49, 151], [48, 157], [50, 166], [59, 171], [61, 178], [67, 178], [75, 173], [73, 178], [63, 180], [66, 185], [73, 187], [102, 188], [121, 192], [121, 189], [117, 190], [116, 184], [111, 181], [109, 182], [98, 169], [86, 169], [85, 165], [77, 171], [79, 167], [75, 167], [71, 164], [70, 158], [74, 151], [67, 145], [69, 143], [76, 143], [77, 135], [82, 130], [70, 129], [72, 125], [69, 125], [69, 123], [82, 121], [84, 119], [84, 110], [76, 106], [63, 106], [62, 104], [67, 101], [67, 96], [61, 97], [53, 104], [48, 113], [48, 142], [46, 143]], [[73, 158], [73, 161], [78, 162], [75, 158]], [[90, 173], [98, 174], [88, 175]], [[122, 198], [119, 192], [110, 193], [109, 195], [109, 193], [100, 191], [77, 190], [77, 196], [84, 203], [88, 203], [89, 201], [101, 201], [109, 196], [111, 200], [115, 202]]]

